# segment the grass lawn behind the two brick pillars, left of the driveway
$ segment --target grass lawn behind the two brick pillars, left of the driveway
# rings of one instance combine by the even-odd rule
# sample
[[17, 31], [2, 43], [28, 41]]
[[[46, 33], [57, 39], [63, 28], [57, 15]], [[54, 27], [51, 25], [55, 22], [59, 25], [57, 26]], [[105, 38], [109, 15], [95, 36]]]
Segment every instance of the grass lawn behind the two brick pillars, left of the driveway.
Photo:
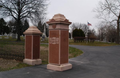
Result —
[[[45, 41], [46, 43], [47, 41]], [[48, 45], [40, 44], [40, 59], [42, 64], [48, 64]], [[0, 53], [24, 54], [24, 40], [16, 42], [15, 39], [0, 39]], [[69, 47], [69, 58], [81, 55], [83, 52], [79, 49]], [[18, 69], [28, 67], [30, 65], [24, 64], [22, 61], [15, 59], [3, 59], [0, 57], [0, 71], [7, 71], [11, 69]]]

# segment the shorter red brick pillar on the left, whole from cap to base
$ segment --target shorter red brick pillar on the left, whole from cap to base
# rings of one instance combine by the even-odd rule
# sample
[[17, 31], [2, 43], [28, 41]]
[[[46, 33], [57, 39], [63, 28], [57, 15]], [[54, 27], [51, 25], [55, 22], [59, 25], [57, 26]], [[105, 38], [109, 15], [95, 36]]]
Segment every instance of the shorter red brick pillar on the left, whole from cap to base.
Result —
[[30, 26], [25, 32], [25, 59], [29, 65], [41, 64], [40, 59], [40, 30], [36, 26]]

